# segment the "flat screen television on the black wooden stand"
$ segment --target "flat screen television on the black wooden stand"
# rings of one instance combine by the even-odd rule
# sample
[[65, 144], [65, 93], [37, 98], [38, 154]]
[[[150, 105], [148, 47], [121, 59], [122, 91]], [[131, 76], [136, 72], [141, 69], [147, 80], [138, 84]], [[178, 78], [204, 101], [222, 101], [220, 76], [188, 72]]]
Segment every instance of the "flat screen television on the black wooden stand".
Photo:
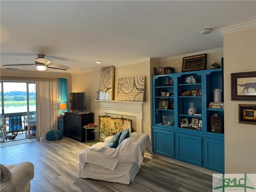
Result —
[[85, 111], [85, 92], [69, 93], [69, 108], [71, 111]]

